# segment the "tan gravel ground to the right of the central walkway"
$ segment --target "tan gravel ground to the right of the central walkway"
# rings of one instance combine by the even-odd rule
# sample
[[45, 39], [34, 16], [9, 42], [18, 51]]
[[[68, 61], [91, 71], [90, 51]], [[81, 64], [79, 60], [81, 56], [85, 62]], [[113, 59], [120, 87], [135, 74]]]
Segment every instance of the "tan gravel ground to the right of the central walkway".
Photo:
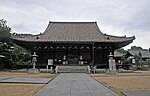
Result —
[[117, 75], [91, 74], [91, 76], [119, 95], [124, 91], [150, 90], [150, 71], [118, 73]]

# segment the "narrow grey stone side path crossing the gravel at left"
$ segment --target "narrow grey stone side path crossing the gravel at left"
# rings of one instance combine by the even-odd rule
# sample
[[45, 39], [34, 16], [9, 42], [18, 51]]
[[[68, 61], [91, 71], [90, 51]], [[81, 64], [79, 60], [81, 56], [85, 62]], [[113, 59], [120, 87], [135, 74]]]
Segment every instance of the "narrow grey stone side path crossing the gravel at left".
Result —
[[47, 84], [52, 78], [0, 78], [0, 83]]

